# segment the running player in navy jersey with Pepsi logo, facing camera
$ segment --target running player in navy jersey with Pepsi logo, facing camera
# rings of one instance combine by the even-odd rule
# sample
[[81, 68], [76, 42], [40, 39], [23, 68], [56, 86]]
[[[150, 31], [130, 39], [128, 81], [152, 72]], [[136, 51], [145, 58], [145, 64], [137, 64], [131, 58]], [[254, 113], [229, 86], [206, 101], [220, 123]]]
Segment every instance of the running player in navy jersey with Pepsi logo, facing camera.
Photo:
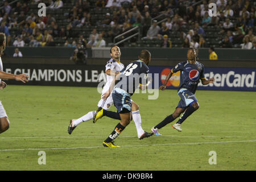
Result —
[[189, 117], [194, 111], [199, 109], [199, 102], [195, 97], [195, 92], [197, 89], [197, 85], [201, 80], [203, 85], [207, 85], [214, 82], [214, 78], [209, 78], [206, 80], [204, 77], [204, 65], [196, 61], [196, 51], [193, 48], [188, 49], [187, 53], [187, 61], [181, 62], [175, 66], [175, 68], [171, 69], [170, 73], [168, 73], [164, 84], [160, 86], [160, 90], [166, 89], [166, 84], [168, 80], [171, 78], [173, 73], [180, 71], [180, 85], [178, 88], [178, 95], [180, 96], [179, 104], [177, 105], [174, 113], [168, 115], [162, 122], [158, 125], [152, 127], [151, 131], [154, 132], [155, 135], [159, 134], [159, 129], [166, 126], [168, 123], [174, 121], [177, 117], [180, 116], [179, 121], [177, 121], [172, 127], [177, 131], [182, 131], [181, 123], [185, 119]]

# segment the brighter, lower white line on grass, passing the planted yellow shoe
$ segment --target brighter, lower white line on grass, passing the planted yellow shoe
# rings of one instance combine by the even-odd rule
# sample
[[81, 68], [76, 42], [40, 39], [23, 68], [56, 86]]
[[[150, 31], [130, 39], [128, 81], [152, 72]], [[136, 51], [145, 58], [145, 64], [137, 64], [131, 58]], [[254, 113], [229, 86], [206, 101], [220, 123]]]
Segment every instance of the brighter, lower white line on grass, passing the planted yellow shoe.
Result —
[[[162, 144], [141, 144], [121, 147], [148, 147], [148, 146], [171, 146], [171, 145], [190, 145], [190, 144], [218, 144], [218, 143], [242, 143], [242, 142], [256, 142], [256, 140], [245, 141], [226, 141], [226, 142], [195, 142], [195, 143], [162, 143]], [[94, 147], [63, 147], [63, 148], [22, 148], [22, 149], [4, 149], [2, 151], [27, 151], [27, 150], [72, 150], [72, 149], [88, 149], [88, 148], [104, 148], [100, 146]]]

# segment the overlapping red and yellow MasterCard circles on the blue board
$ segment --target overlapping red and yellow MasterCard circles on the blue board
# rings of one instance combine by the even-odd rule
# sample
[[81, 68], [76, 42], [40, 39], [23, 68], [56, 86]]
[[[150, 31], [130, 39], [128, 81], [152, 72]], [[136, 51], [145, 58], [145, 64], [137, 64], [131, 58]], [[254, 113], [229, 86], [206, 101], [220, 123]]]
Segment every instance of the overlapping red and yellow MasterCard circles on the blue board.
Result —
[[[161, 72], [161, 81], [162, 84], [164, 84], [164, 81], [166, 80], [166, 77], [168, 75], [168, 73], [171, 71], [171, 69], [169, 68], [165, 68], [163, 69], [163, 71]], [[180, 85], [180, 71], [173, 73], [172, 77], [168, 80], [166, 86], [179, 86]]]

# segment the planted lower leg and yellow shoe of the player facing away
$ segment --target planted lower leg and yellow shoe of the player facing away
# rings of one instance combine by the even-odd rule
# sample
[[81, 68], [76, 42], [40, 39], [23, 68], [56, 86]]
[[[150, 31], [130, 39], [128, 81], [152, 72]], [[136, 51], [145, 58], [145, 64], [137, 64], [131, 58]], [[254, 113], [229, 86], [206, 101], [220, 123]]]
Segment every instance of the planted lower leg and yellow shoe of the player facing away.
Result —
[[115, 126], [115, 129], [109, 135], [109, 137], [103, 142], [104, 147], [119, 147], [114, 144], [113, 140], [121, 134], [121, 132], [125, 129], [127, 125], [129, 125], [131, 121], [131, 113], [119, 113], [121, 117], [121, 121]]

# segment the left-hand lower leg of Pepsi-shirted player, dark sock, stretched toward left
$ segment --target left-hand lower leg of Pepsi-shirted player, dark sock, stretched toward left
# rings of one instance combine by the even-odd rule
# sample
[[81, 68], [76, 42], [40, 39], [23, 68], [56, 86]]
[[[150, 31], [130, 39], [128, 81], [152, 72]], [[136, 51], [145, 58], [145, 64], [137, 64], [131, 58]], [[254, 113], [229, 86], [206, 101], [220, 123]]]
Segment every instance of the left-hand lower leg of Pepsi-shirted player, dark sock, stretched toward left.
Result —
[[162, 127], [166, 126], [168, 123], [174, 121], [177, 117], [180, 116], [181, 113], [183, 113], [184, 109], [181, 107], [176, 107], [174, 113], [172, 113], [171, 115], [168, 115], [162, 122], [160, 122], [158, 125], [152, 127], [151, 131], [156, 135], [159, 136], [161, 134], [159, 134], [159, 129], [161, 129]]

